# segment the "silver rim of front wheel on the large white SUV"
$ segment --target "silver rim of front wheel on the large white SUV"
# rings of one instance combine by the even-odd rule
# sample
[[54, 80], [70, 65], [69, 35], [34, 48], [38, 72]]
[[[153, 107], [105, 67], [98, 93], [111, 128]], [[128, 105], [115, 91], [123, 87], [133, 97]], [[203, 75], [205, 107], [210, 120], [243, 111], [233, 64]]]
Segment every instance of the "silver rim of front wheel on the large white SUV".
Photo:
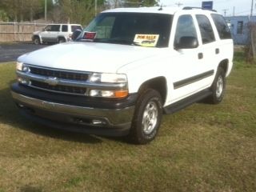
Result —
[[158, 106], [155, 102], [149, 102], [143, 113], [142, 127], [145, 134], [150, 134], [158, 122]]

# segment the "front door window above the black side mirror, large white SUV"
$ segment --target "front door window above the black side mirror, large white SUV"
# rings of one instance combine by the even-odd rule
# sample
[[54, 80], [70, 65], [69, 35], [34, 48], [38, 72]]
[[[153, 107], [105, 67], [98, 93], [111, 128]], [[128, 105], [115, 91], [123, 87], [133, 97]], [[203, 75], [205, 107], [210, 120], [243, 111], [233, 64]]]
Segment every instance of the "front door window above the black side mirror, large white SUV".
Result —
[[174, 46], [177, 45], [182, 37], [198, 38], [195, 30], [194, 21], [190, 14], [182, 15], [178, 18], [177, 28], [174, 38]]

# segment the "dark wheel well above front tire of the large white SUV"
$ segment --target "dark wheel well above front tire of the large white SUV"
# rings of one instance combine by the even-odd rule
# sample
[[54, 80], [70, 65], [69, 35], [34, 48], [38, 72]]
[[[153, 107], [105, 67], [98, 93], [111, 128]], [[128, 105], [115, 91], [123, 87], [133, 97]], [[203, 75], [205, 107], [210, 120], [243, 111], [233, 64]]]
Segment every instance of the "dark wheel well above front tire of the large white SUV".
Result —
[[146, 82], [143, 82], [142, 86], [140, 86], [139, 88], [139, 92], [149, 88], [153, 90], [157, 90], [159, 94], [161, 94], [163, 103], [166, 101], [166, 92], [167, 92], [166, 78], [164, 77], [152, 78]]

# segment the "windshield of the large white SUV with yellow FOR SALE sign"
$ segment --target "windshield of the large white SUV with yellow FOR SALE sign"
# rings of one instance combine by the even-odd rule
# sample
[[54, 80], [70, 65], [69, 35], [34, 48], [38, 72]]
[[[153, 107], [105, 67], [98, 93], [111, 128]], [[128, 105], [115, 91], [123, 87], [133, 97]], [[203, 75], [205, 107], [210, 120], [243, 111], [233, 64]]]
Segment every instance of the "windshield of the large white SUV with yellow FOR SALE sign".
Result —
[[[170, 38], [172, 15], [148, 13], [102, 13], [82, 33], [93, 42], [166, 47]], [[85, 35], [94, 32], [94, 35]]]

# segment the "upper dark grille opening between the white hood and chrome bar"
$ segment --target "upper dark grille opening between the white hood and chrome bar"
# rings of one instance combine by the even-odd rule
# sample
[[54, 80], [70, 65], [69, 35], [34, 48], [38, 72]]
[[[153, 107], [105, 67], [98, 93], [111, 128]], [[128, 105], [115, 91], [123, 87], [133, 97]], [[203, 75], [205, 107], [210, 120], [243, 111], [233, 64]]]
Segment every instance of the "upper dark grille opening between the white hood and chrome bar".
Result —
[[30, 73], [38, 74], [46, 77], [63, 78], [63, 79], [76, 80], [76, 81], [86, 81], [88, 79], [88, 74], [82, 74], [78, 72], [68, 72], [68, 71], [62, 71], [62, 70], [42, 69], [34, 66], [30, 66]]

